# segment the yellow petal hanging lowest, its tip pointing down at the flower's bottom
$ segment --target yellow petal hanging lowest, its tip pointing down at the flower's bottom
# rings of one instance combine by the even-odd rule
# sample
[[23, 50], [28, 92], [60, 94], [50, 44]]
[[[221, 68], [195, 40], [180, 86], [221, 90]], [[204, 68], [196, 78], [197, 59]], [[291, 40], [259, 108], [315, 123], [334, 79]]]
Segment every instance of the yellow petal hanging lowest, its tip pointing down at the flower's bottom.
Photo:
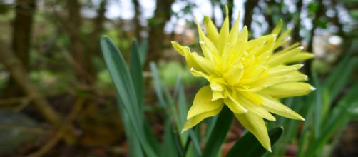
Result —
[[238, 121], [260, 141], [261, 145], [271, 152], [271, 142], [267, 133], [265, 121], [255, 113], [235, 114]]

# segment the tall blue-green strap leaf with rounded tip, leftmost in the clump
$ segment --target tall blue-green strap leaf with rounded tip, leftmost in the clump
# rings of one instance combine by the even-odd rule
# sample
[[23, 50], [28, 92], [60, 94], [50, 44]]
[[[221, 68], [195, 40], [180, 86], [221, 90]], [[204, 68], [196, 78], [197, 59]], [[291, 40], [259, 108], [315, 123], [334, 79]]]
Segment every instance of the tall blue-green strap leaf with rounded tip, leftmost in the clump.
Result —
[[123, 101], [123, 106], [126, 108], [128, 117], [132, 122], [134, 132], [138, 136], [143, 151], [145, 151], [147, 156], [156, 156], [143, 133], [143, 121], [140, 118], [138, 110], [138, 99], [126, 61], [123, 59], [121, 52], [117, 49], [116, 44], [114, 44], [108, 36], [102, 37], [101, 49], [113, 83], [118, 91], [118, 96], [121, 98], [121, 101]]

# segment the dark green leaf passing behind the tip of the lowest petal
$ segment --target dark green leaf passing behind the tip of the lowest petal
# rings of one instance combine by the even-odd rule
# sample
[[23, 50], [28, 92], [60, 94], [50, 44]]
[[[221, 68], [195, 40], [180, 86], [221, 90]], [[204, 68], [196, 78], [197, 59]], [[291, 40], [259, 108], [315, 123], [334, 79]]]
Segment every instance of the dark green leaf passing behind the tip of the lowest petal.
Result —
[[[271, 146], [281, 137], [283, 132], [282, 126], [272, 128], [269, 131]], [[227, 153], [227, 157], [240, 156], [240, 157], [251, 157], [251, 156], [262, 156], [267, 153], [267, 150], [263, 148], [259, 141], [255, 138], [252, 133], [247, 132], [245, 136], [242, 136], [231, 150]]]

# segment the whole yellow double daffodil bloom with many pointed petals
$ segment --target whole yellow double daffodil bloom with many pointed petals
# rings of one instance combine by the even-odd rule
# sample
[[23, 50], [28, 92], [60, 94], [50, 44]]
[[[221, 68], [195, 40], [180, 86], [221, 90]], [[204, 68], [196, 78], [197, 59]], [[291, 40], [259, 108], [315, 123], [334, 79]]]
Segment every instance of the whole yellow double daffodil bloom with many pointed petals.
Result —
[[175, 50], [185, 56], [193, 76], [210, 82], [196, 93], [183, 131], [217, 115], [226, 105], [242, 126], [254, 134], [267, 151], [271, 151], [263, 118], [275, 121], [271, 114], [275, 113], [305, 120], [279, 99], [302, 96], [314, 90], [313, 86], [303, 82], [307, 76], [298, 71], [303, 65], [291, 64], [311, 59], [313, 55], [301, 52], [302, 47], [297, 43], [282, 47], [290, 41], [287, 38], [290, 30], [280, 33], [282, 22], [270, 35], [248, 40], [246, 27], [239, 32], [239, 18], [229, 30], [229, 17], [226, 16], [220, 32], [208, 16], [204, 21], [206, 35], [197, 21], [203, 56], [172, 42]]

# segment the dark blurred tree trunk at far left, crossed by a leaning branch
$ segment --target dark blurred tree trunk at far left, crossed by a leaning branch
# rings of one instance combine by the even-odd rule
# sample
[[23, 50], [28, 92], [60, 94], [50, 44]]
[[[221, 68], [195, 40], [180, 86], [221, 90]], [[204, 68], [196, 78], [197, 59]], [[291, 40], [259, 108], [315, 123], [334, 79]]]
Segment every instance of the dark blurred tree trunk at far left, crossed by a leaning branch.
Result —
[[[29, 52], [31, 48], [31, 31], [34, 23], [35, 0], [16, 1], [16, 15], [12, 31], [12, 49], [15, 56], [21, 61], [22, 66], [29, 71]], [[10, 75], [8, 84], [4, 90], [4, 98], [23, 96], [24, 91]]]

